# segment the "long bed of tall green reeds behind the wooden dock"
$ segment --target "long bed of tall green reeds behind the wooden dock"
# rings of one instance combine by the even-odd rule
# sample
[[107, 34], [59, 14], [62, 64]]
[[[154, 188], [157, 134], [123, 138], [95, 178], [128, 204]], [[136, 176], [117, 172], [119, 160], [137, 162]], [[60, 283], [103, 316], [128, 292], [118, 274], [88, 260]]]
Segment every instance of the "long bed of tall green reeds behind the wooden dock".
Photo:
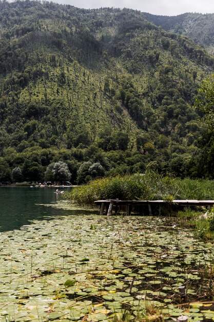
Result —
[[147, 171], [145, 174], [117, 175], [93, 180], [73, 188], [66, 199], [93, 205], [95, 200], [214, 199], [213, 180], [180, 179]]

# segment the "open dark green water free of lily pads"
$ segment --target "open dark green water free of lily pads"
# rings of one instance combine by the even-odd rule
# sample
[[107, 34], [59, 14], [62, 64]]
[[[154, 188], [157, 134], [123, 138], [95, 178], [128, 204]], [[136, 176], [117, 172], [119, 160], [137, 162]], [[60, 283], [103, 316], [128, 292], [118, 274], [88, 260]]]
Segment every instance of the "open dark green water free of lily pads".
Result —
[[0, 231], [20, 229], [35, 219], [77, 214], [45, 206], [57, 202], [54, 192], [55, 188], [0, 187]]

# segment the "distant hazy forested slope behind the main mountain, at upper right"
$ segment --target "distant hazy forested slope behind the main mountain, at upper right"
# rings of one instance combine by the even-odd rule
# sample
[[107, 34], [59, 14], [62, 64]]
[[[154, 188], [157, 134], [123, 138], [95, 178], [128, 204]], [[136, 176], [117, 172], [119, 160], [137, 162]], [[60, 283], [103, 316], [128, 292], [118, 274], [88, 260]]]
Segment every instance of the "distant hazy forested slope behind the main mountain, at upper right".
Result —
[[177, 16], [145, 13], [144, 15], [155, 25], [185, 35], [210, 53], [214, 52], [214, 13], [184, 13]]

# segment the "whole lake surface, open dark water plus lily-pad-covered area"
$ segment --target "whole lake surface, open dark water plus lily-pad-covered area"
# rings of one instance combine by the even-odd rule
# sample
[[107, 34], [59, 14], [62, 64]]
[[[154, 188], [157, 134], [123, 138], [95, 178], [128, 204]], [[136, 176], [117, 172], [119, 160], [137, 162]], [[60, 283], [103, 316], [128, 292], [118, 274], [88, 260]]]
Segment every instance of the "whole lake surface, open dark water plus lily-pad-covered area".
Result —
[[99, 216], [54, 192], [0, 187], [0, 321], [213, 322], [212, 243], [173, 217]]

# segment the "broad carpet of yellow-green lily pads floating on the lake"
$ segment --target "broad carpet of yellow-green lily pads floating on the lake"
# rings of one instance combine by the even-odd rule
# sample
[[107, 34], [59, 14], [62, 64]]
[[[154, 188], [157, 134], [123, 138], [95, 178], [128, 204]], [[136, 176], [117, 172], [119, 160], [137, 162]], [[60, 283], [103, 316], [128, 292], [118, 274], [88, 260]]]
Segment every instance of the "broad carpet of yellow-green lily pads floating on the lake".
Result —
[[143, 310], [145, 299], [158, 299], [153, 305], [177, 317], [186, 308], [171, 302], [182, 300], [178, 287], [183, 284], [190, 320], [213, 318], [200, 303], [206, 300], [203, 272], [214, 263], [213, 245], [185, 229], [169, 233], [157, 218], [69, 216], [45, 225], [35, 220], [23, 230], [3, 232], [1, 248], [0, 305], [17, 321], [38, 315], [81, 320], [86, 314], [94, 322], [108, 320], [123, 307]]

